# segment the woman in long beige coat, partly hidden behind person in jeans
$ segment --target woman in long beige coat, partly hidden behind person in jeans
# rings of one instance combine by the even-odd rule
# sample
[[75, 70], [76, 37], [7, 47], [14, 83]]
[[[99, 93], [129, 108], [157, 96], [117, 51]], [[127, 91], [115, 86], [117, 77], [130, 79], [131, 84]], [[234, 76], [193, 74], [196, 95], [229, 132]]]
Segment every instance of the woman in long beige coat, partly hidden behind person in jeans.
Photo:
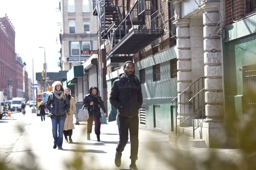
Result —
[[[73, 134], [73, 129], [75, 129], [75, 126], [73, 124], [73, 117], [75, 114], [76, 105], [75, 105], [75, 99], [70, 95], [69, 88], [65, 89], [65, 93], [68, 95], [70, 107], [69, 107], [69, 110], [67, 111], [67, 118], [64, 123], [63, 134], [66, 142], [73, 142], [72, 134]], [[68, 140], [68, 136], [69, 136], [69, 140]]]

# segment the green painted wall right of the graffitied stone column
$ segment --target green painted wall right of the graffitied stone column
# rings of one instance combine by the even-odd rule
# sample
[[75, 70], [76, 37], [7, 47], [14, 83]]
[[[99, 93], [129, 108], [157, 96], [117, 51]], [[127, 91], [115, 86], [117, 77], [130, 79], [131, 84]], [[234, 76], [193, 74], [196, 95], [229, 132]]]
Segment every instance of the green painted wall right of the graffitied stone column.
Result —
[[[229, 144], [236, 146], [234, 123], [242, 119], [243, 75], [241, 68], [256, 64], [256, 16], [225, 28], [223, 40], [225, 122]], [[233, 139], [233, 140], [232, 140]]]

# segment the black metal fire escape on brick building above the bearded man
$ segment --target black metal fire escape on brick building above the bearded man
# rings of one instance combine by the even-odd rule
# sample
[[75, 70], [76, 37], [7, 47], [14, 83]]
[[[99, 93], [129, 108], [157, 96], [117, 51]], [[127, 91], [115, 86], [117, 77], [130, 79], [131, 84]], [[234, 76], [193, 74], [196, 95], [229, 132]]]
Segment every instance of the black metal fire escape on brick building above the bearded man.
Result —
[[[146, 9], [146, 1], [136, 1], [124, 16], [120, 7], [113, 6], [111, 0], [92, 0], [93, 14], [99, 19], [101, 38], [108, 39], [107, 66], [119, 66], [133, 60], [136, 53], [164, 34], [163, 29], [152, 27], [158, 18], [158, 11]], [[145, 23], [146, 15], [155, 18]]]

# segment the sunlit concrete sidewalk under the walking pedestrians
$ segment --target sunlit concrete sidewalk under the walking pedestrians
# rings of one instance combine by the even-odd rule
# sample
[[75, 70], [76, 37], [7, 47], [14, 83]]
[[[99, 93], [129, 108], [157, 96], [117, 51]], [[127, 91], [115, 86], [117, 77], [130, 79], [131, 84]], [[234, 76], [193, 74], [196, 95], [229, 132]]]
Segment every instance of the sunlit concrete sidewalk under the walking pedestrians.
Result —
[[[30, 123], [25, 126], [26, 131], [19, 138], [13, 153], [5, 160], [10, 168], [21, 169], [20, 166], [31, 169], [129, 169], [130, 142], [122, 153], [121, 167], [114, 163], [115, 149], [119, 140], [116, 122], [101, 125], [100, 142], [96, 135], [91, 134], [87, 141], [86, 122], [75, 125], [73, 143], [63, 141], [63, 150], [53, 149], [51, 119], [46, 117], [41, 122], [34, 114]], [[93, 127], [94, 128], [94, 127]], [[240, 150], [230, 149], [199, 149], [178, 146], [168, 142], [168, 135], [147, 130], [139, 130], [139, 154], [136, 162], [138, 169], [183, 169], [174, 168], [184, 166], [186, 161], [204, 161], [209, 154], [215, 153], [220, 159], [237, 162], [241, 157]], [[195, 161], [195, 162], [196, 162]], [[19, 167], [16, 167], [16, 166]], [[37, 167], [37, 168], [36, 168]], [[184, 169], [193, 169], [187, 168]]]

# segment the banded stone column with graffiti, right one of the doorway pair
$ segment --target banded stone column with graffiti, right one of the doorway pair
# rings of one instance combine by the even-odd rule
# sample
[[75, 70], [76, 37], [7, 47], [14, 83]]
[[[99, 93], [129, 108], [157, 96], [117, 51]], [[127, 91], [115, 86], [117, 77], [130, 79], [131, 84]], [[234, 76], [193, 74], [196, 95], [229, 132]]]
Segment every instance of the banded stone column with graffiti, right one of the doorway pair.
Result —
[[205, 113], [203, 139], [210, 148], [225, 143], [222, 42], [217, 34], [220, 22], [218, 1], [202, 1], [204, 35]]

